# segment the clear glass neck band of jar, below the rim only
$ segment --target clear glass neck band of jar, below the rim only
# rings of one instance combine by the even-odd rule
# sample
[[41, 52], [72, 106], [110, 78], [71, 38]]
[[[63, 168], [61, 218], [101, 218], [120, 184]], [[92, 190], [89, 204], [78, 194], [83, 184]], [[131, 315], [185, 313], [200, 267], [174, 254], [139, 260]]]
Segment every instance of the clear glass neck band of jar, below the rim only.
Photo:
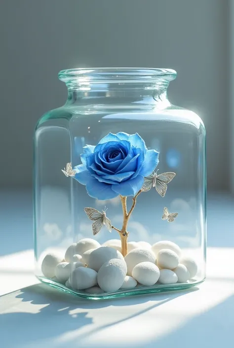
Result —
[[68, 87], [66, 105], [79, 104], [153, 104], [160, 108], [170, 106], [167, 99], [167, 87], [169, 83], [148, 86], [136, 86], [129, 84], [121, 86], [73, 86]]

